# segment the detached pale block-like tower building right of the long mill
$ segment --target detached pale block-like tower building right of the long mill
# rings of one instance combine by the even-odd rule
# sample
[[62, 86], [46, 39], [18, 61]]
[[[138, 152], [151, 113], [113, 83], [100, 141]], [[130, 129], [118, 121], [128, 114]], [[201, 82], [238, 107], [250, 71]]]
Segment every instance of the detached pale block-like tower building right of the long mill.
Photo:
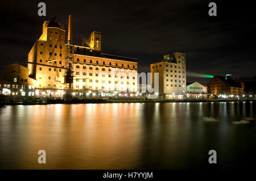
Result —
[[172, 53], [162, 61], [150, 65], [151, 82], [154, 86], [154, 73], [159, 73], [159, 98], [183, 99], [186, 96], [186, 55]]

